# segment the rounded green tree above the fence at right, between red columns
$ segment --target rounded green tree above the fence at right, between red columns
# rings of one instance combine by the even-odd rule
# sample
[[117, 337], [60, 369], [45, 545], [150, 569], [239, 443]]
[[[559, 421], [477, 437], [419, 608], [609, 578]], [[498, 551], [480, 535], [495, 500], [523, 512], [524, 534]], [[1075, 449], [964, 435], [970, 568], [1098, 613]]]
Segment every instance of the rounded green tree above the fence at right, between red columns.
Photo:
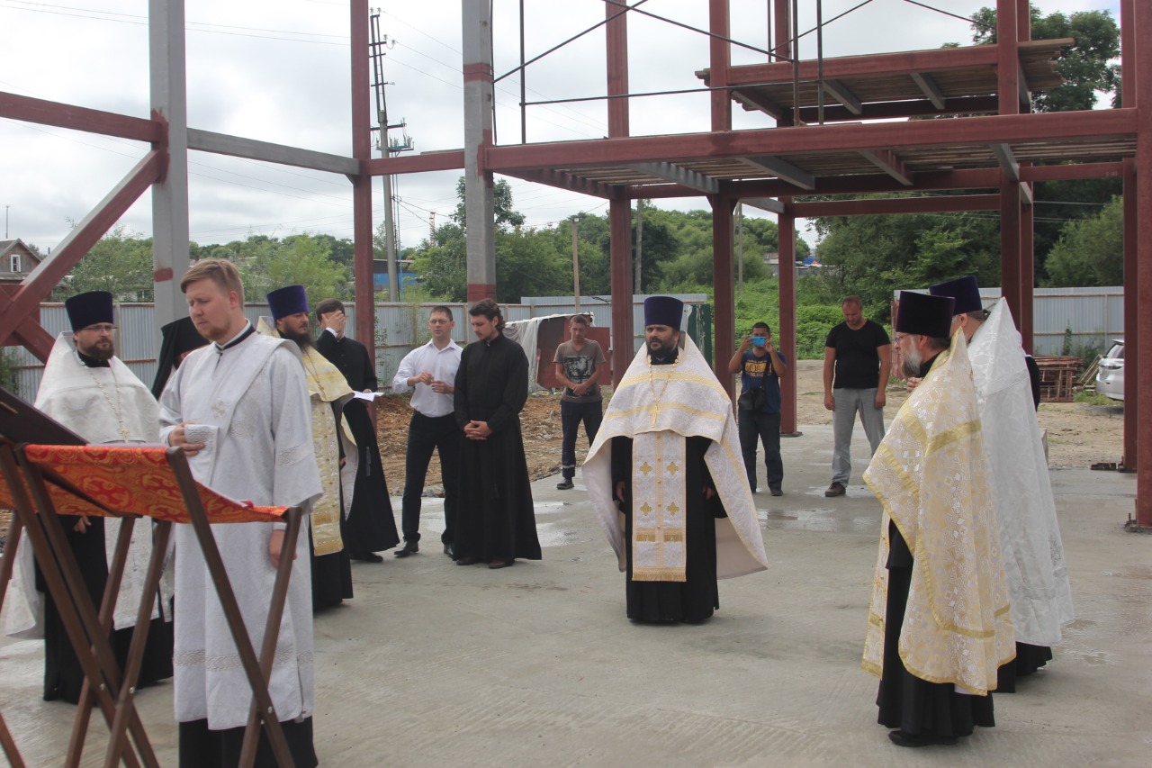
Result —
[[1048, 255], [1053, 287], [1124, 284], [1124, 204], [1114, 197], [1099, 213], [1064, 226]]

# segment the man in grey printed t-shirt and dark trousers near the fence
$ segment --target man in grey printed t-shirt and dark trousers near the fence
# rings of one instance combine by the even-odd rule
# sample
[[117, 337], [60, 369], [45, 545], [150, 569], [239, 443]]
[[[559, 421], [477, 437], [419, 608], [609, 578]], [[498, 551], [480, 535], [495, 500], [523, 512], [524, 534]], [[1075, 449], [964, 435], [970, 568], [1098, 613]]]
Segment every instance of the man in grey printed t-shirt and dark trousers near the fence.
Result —
[[564, 386], [560, 396], [560, 423], [564, 434], [560, 451], [563, 479], [556, 483], [560, 490], [571, 488], [573, 477], [576, 476], [576, 432], [581, 421], [584, 422], [589, 445], [600, 429], [604, 398], [600, 396], [599, 382], [608, 364], [600, 345], [586, 338], [586, 315], [573, 315], [568, 329], [571, 340], [558, 346], [553, 359], [556, 379]]

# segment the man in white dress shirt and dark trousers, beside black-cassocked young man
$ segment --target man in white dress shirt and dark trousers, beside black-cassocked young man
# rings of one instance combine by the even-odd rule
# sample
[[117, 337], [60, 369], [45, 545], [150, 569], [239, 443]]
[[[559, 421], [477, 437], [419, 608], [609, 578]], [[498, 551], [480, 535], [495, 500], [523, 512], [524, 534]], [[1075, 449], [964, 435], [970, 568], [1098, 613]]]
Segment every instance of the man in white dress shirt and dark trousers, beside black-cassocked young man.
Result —
[[452, 310], [434, 307], [429, 316], [432, 339], [412, 349], [400, 361], [392, 379], [393, 392], [412, 389], [412, 420], [408, 426], [408, 453], [404, 457], [404, 499], [401, 528], [404, 545], [396, 557], [419, 551], [420, 496], [432, 451], [440, 454], [440, 480], [444, 483], [444, 554], [454, 558], [453, 534], [456, 524], [457, 488], [460, 487], [460, 449], [464, 434], [456, 423], [453, 393], [456, 369], [460, 368], [460, 345], [452, 340]]

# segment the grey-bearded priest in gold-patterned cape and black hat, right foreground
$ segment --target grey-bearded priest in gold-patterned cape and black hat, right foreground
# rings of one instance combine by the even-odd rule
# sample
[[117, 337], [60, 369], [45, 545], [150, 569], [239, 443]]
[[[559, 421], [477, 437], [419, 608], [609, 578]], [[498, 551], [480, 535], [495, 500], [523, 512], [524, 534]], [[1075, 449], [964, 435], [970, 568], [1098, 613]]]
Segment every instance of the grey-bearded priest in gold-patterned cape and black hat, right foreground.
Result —
[[1015, 654], [987, 457], [953, 300], [900, 294], [893, 340], [920, 384], [864, 482], [884, 510], [863, 667], [902, 747], [995, 725], [996, 669]]

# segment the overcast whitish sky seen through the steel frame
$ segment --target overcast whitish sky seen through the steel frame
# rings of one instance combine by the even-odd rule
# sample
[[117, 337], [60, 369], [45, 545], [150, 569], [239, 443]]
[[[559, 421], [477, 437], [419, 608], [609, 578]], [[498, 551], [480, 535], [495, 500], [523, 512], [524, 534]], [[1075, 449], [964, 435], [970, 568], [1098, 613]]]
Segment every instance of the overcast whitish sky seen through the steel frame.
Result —
[[[635, 0], [630, 0], [634, 2]], [[458, 0], [382, 2], [380, 30], [392, 47], [385, 60], [388, 114], [407, 120], [415, 152], [463, 146], [461, 12]], [[824, 0], [829, 20], [862, 0]], [[69, 5], [70, 3], [70, 5]], [[147, 0], [0, 0], [0, 90], [107, 110], [149, 114]], [[518, 0], [494, 0], [495, 74], [520, 61]], [[532, 58], [604, 18], [602, 0], [525, 0], [528, 57]], [[764, 48], [765, 0], [736, 0], [733, 36]], [[969, 23], [923, 5], [970, 16], [994, 0], [871, 0], [827, 24], [826, 57], [968, 44]], [[1054, 10], [1108, 10], [1119, 0], [1039, 0]], [[801, 29], [814, 24], [814, 6], [801, 6]], [[697, 28], [707, 27], [705, 0], [649, 0], [644, 10]], [[187, 3], [189, 126], [338, 155], [351, 155], [348, 3], [341, 0], [196, 0]], [[801, 43], [814, 58], [816, 36]], [[692, 89], [707, 67], [707, 38], [655, 18], [629, 20], [632, 92]], [[763, 61], [735, 47], [734, 63]], [[605, 92], [602, 28], [528, 69], [528, 99], [597, 97]], [[520, 80], [497, 84], [497, 137], [520, 141]], [[598, 138], [607, 134], [604, 100], [529, 108], [528, 141]], [[764, 115], [733, 110], [736, 129], [771, 126]], [[708, 130], [703, 93], [636, 98], [632, 135]], [[396, 137], [401, 131], [392, 131]], [[0, 205], [7, 233], [55, 247], [69, 220], [79, 220], [144, 155], [139, 142], [0, 119]], [[249, 234], [327, 233], [350, 238], [350, 185], [343, 176], [217, 155], [190, 156], [190, 229], [199, 243]], [[445, 221], [456, 204], [460, 172], [396, 176], [397, 236], [416, 246], [430, 217]], [[555, 225], [576, 212], [604, 214], [606, 201], [509, 180], [515, 208], [531, 227]], [[374, 224], [384, 217], [380, 182]], [[706, 209], [700, 198], [659, 201], [661, 208]], [[751, 212], [749, 216], [768, 216]], [[151, 234], [151, 196], [121, 221]], [[812, 234], [801, 232], [812, 241]]]

